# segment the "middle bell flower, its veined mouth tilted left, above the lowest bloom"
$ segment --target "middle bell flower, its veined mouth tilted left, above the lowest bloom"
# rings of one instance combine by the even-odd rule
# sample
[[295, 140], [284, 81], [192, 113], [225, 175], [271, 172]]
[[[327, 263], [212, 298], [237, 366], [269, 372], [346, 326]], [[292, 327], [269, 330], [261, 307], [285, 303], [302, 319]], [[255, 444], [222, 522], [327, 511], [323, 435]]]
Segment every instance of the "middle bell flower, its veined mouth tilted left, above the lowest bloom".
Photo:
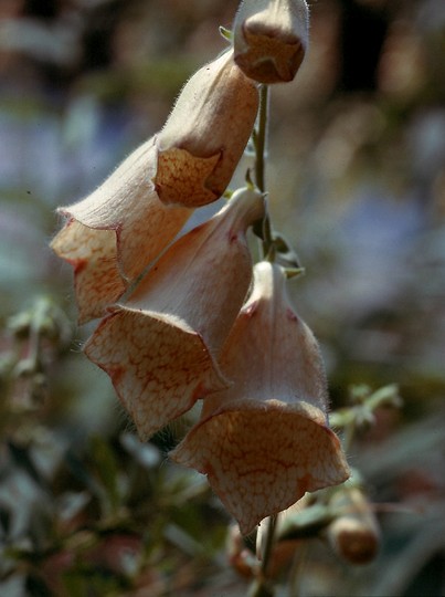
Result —
[[245, 231], [263, 214], [261, 193], [236, 191], [166, 251], [87, 342], [141, 439], [227, 386], [215, 358], [252, 277]]

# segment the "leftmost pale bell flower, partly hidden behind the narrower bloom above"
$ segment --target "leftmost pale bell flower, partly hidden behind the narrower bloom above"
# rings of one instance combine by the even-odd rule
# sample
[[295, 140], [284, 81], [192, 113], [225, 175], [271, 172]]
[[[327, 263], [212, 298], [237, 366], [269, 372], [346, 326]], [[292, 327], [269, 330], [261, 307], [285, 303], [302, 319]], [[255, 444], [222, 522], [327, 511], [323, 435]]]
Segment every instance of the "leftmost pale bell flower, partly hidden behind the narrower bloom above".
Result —
[[68, 220], [51, 247], [74, 266], [80, 323], [102, 316], [191, 214], [159, 200], [151, 181], [156, 156], [152, 138], [92, 195], [59, 209]]

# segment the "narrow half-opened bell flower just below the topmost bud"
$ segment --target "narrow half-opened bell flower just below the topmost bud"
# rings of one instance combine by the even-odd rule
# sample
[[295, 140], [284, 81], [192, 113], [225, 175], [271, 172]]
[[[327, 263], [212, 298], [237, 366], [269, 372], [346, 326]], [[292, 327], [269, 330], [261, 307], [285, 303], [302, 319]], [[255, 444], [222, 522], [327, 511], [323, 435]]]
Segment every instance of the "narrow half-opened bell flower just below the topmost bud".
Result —
[[251, 136], [258, 91], [225, 52], [186, 84], [158, 136], [153, 178], [166, 205], [198, 207], [227, 187]]

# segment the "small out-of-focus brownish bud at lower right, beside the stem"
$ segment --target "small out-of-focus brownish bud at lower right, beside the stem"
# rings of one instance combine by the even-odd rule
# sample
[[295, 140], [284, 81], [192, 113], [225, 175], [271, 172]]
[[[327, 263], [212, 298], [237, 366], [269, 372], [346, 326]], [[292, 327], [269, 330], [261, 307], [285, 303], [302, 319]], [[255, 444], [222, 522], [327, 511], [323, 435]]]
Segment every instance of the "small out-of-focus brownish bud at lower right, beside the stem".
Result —
[[345, 486], [333, 494], [329, 505], [345, 512], [327, 530], [336, 553], [350, 564], [372, 562], [380, 546], [380, 528], [363, 492], [357, 486]]

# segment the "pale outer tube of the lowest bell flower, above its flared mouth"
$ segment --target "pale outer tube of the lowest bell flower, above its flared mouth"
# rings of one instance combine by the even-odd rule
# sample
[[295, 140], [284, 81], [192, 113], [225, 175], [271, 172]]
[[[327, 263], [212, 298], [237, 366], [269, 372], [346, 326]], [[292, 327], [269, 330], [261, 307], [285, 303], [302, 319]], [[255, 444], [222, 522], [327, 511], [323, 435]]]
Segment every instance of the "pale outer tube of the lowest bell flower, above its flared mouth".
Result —
[[253, 290], [219, 360], [234, 384], [205, 400], [205, 416], [247, 396], [258, 401], [277, 398], [289, 405], [304, 401], [321, 411], [327, 409], [320, 349], [289, 303], [279, 265], [266, 261], [255, 264]]

